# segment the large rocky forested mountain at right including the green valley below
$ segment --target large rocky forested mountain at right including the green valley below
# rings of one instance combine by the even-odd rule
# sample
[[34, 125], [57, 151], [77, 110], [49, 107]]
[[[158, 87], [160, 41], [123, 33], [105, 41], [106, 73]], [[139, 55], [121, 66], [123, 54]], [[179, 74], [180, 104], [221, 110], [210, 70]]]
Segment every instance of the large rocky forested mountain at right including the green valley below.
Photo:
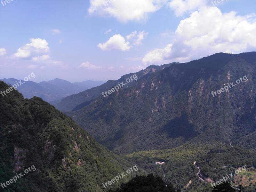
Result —
[[[141, 75], [65, 113], [111, 151], [158, 175], [164, 171], [175, 188], [206, 192], [244, 165], [256, 174], [255, 78], [256, 52], [216, 53]], [[166, 163], [163, 170], [157, 161]], [[247, 186], [255, 183], [246, 177]]]

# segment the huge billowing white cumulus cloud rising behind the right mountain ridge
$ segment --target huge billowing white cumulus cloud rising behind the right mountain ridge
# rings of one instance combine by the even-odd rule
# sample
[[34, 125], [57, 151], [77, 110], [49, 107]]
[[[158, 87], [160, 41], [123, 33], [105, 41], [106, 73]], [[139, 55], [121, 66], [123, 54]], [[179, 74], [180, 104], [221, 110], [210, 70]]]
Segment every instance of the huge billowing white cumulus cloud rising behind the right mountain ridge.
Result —
[[237, 16], [236, 12], [221, 13], [217, 7], [203, 6], [180, 21], [173, 42], [148, 52], [142, 61], [145, 65], [187, 62], [216, 52], [255, 51], [255, 18], [255, 14]]

